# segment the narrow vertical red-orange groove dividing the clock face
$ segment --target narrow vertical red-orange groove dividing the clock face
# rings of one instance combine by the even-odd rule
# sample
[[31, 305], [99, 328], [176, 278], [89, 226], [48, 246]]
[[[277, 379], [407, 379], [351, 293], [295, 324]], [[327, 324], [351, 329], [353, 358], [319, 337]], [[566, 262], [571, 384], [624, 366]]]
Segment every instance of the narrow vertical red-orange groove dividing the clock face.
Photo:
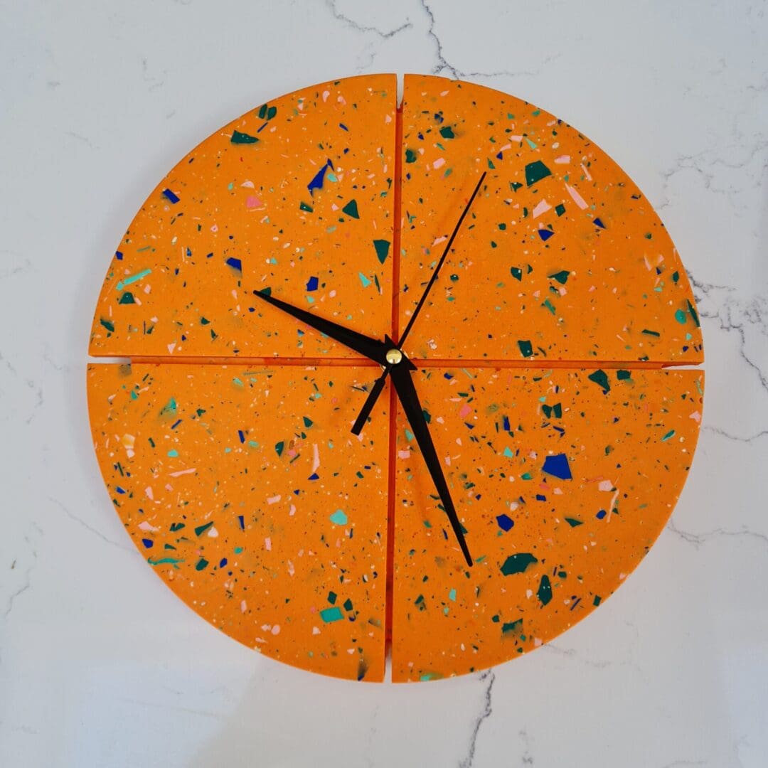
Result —
[[[393, 208], [395, 220], [392, 230], [392, 339], [399, 338], [400, 315], [400, 235], [402, 223], [402, 104], [398, 105], [395, 113], [395, 180]], [[395, 568], [395, 460], [397, 447], [397, 397], [395, 388], [389, 386], [389, 482], [387, 488], [387, 536], [386, 536], [386, 607], [385, 621], [385, 656], [392, 652], [392, 585]]]

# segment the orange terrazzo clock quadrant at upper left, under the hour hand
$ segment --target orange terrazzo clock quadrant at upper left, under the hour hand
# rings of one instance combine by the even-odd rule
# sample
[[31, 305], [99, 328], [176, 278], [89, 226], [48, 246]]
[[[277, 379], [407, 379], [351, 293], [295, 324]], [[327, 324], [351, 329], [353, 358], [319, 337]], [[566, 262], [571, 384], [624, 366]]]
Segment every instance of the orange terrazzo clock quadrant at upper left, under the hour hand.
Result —
[[111, 261], [92, 356], [350, 357], [253, 290], [389, 332], [396, 78], [255, 108], [157, 185]]

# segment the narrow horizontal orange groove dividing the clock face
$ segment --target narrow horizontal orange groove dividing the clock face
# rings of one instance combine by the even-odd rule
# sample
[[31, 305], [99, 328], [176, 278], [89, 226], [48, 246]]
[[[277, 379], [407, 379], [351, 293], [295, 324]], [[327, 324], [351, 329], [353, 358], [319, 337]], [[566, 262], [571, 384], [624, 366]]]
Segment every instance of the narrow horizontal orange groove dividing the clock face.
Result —
[[[303, 366], [306, 368], [336, 367], [336, 368], [380, 368], [377, 362], [366, 357], [235, 357], [235, 356], [136, 356], [136, 357], [104, 357], [97, 358], [98, 362], [121, 363], [127, 365], [167, 366], [167, 365], [197, 365], [197, 366]], [[92, 361], [96, 362], [96, 360]], [[497, 360], [497, 359], [465, 359], [465, 358], [412, 358], [417, 368], [521, 368], [521, 369], [663, 369], [663, 368], [696, 368], [696, 364], [688, 362], [657, 362], [648, 360]]]

